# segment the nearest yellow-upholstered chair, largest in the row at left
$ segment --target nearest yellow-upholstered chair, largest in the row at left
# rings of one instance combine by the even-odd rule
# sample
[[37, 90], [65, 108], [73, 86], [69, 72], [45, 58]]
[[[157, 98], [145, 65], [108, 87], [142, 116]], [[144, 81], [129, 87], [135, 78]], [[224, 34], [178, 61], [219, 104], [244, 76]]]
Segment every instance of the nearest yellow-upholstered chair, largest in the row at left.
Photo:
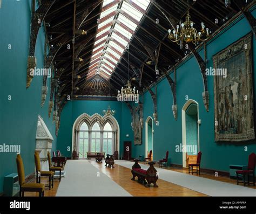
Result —
[[42, 183], [25, 183], [25, 171], [21, 155], [16, 157], [19, 177], [19, 197], [24, 197], [24, 192], [39, 192], [39, 197], [44, 196], [45, 185]]

